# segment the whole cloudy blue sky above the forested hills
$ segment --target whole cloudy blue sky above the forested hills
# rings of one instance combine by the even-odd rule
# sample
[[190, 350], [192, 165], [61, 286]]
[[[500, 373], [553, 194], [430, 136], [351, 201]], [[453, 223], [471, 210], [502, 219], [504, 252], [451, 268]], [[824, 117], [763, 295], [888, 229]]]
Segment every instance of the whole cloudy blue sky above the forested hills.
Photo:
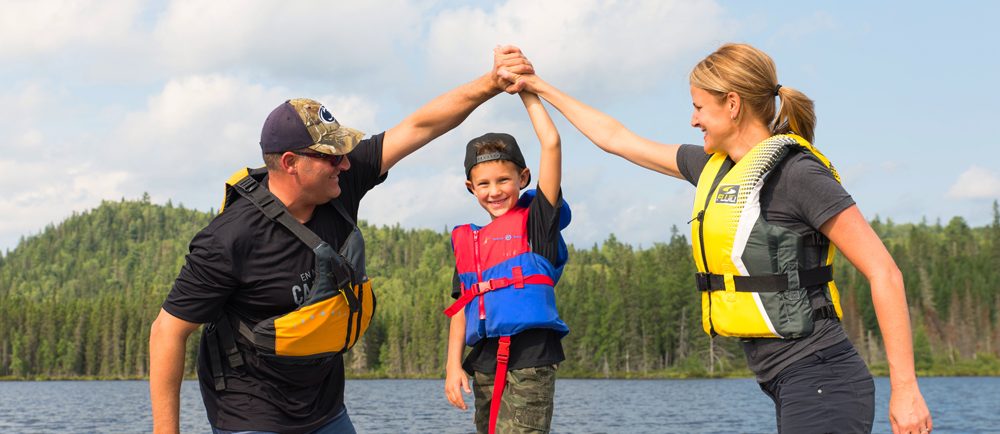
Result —
[[[982, 226], [1000, 198], [997, 16], [1000, 3], [972, 1], [4, 1], [0, 252], [104, 200], [217, 210], [228, 176], [262, 164], [261, 125], [286, 99], [376, 134], [487, 73], [501, 44], [638, 134], [697, 145], [688, 73], [723, 43], [752, 44], [815, 101], [815, 145], [866, 217]], [[550, 112], [569, 243], [688, 233], [690, 184]], [[397, 164], [360, 218], [485, 223], [462, 159], [486, 132], [513, 134], [537, 170], [523, 106], [501, 94]]]

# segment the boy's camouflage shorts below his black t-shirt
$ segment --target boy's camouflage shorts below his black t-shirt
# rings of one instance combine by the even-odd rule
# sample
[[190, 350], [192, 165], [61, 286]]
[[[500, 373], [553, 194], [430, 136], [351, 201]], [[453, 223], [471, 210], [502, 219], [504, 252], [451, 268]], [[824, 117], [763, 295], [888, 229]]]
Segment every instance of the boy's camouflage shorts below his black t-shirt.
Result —
[[[548, 365], [507, 372], [507, 386], [497, 416], [497, 434], [549, 432], [556, 367]], [[472, 384], [476, 396], [476, 431], [480, 434], [489, 432], [493, 380], [493, 373], [476, 372]]]

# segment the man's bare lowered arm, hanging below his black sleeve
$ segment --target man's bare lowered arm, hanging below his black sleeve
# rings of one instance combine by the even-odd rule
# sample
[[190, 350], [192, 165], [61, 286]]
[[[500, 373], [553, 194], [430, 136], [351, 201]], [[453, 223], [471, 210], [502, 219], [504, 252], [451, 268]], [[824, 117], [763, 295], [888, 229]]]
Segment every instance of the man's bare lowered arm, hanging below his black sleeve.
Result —
[[184, 379], [184, 349], [188, 336], [201, 324], [160, 309], [149, 331], [149, 400], [153, 432], [180, 431], [180, 391]]

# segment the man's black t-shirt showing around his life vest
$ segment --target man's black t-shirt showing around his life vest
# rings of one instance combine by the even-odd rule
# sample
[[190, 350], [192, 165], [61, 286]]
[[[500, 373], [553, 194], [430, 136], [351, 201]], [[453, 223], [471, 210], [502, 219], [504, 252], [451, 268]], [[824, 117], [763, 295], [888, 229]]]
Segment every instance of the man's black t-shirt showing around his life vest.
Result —
[[[382, 138], [362, 140], [348, 156], [350, 169], [340, 174], [341, 195], [334, 200], [355, 221], [361, 198], [385, 180], [379, 175]], [[305, 226], [335, 249], [353, 229], [330, 204], [317, 206]], [[189, 249], [163, 303], [164, 310], [185, 321], [209, 323], [228, 313], [255, 324], [295, 310], [313, 285], [312, 250], [242, 197], [195, 235]], [[341, 356], [290, 363], [243, 351], [246, 363], [227, 366], [226, 390], [216, 391], [207, 341], [203, 335], [198, 378], [209, 422], [216, 428], [309, 432], [343, 408]]]

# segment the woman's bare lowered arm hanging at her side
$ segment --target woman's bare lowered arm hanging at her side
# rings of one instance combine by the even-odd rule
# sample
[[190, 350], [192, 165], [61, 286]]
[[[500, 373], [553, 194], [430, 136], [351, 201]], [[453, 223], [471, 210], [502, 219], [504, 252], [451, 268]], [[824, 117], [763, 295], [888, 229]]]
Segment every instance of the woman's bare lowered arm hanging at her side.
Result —
[[844, 257], [864, 274], [872, 291], [889, 362], [889, 421], [894, 433], [933, 429], [927, 403], [917, 387], [913, 368], [910, 315], [903, 275], [889, 251], [865, 221], [856, 205], [833, 216], [820, 228]]

